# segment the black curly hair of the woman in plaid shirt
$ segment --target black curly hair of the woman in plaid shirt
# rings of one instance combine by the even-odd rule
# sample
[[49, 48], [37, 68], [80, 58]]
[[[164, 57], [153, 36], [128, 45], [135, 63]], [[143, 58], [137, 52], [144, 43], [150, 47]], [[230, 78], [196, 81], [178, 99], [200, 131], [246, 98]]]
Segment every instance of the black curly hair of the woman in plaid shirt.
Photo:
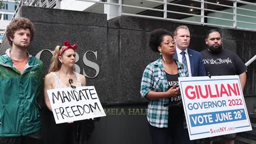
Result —
[[151, 50], [158, 52], [158, 46], [162, 43], [164, 36], [173, 37], [173, 34], [170, 31], [161, 28], [151, 31], [149, 36], [149, 47]]

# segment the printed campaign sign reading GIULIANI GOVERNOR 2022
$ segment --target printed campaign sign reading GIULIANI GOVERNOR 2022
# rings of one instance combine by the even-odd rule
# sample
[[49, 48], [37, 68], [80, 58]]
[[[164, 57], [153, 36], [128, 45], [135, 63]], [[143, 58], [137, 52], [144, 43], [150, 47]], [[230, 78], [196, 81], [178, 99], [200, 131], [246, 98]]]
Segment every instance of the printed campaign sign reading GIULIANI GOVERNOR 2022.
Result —
[[238, 76], [179, 77], [190, 140], [252, 130]]

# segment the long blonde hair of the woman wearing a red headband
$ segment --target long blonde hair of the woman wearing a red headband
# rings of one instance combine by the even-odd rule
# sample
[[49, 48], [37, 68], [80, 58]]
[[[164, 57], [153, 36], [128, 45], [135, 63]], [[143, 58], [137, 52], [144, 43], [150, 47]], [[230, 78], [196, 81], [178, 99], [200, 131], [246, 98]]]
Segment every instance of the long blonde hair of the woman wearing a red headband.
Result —
[[[48, 70], [48, 73], [51, 73], [52, 71], [58, 71], [61, 68], [61, 62], [59, 60], [59, 52], [65, 49], [67, 46], [59, 46], [57, 45], [54, 49], [54, 53], [51, 59], [50, 67]], [[65, 52], [63, 52], [65, 53]], [[63, 53], [60, 55], [62, 57]], [[72, 68], [73, 71], [75, 71], [75, 66]]]

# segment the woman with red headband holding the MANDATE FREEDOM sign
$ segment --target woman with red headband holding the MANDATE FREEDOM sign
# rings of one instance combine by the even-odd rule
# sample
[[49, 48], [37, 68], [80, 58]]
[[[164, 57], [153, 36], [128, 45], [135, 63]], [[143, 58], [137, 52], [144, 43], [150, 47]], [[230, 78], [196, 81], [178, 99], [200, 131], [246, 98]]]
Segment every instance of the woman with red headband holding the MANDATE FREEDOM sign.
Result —
[[[70, 45], [68, 41], [64, 42], [64, 46], [58, 45], [55, 47], [48, 74], [44, 79], [44, 99], [47, 108], [51, 111], [52, 108], [47, 90], [67, 87], [75, 89], [77, 86], [86, 85], [85, 77], [75, 72], [76, 48], [76, 44]], [[50, 135], [51, 138], [47, 138], [45, 143], [78, 143], [78, 126], [79, 122], [55, 124], [52, 114], [51, 124], [47, 127], [50, 130], [46, 134]]]

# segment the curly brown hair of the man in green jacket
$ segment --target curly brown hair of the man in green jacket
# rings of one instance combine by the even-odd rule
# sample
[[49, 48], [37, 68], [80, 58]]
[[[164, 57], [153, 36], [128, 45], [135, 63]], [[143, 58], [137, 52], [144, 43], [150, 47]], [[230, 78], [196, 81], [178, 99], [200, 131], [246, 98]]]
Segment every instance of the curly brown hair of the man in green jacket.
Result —
[[14, 33], [18, 29], [29, 29], [30, 30], [30, 42], [33, 41], [35, 27], [34, 24], [27, 18], [14, 18], [6, 29], [6, 37], [9, 44], [12, 46], [11, 38], [14, 37]]

